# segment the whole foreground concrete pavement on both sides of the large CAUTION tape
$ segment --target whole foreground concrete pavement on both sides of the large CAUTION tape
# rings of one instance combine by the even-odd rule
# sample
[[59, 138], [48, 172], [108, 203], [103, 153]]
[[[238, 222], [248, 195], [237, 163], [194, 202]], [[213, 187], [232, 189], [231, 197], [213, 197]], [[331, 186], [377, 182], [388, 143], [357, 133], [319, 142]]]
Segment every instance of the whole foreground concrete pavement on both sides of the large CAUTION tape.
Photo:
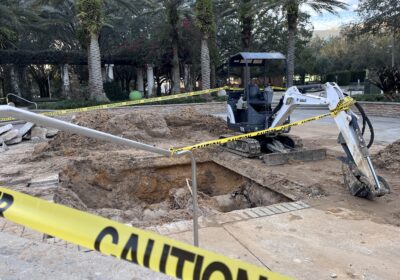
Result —
[[[78, 251], [14, 224], [0, 233], [1, 279], [168, 279], [127, 262]], [[202, 219], [200, 246], [296, 279], [398, 279], [400, 228], [342, 208], [302, 202]], [[192, 243], [191, 221], [153, 228]]]

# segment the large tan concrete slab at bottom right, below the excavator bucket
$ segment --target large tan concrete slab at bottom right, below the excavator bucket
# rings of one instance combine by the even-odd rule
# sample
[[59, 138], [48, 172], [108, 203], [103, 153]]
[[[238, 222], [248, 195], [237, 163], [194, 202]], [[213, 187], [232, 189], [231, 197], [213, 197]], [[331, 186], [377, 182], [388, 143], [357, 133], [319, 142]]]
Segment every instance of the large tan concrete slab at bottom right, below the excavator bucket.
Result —
[[295, 279], [398, 279], [400, 228], [343, 211], [337, 217], [305, 209], [224, 228], [273, 271]]

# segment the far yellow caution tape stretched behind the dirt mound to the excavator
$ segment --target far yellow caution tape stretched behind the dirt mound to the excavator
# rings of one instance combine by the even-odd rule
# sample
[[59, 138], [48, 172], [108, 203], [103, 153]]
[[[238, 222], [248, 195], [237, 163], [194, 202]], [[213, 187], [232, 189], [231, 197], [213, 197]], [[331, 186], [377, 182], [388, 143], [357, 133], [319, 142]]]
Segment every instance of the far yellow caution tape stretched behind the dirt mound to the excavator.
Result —
[[[194, 91], [194, 92], [173, 94], [173, 95], [160, 96], [160, 97], [152, 97], [152, 98], [133, 100], [133, 101], [117, 102], [117, 103], [112, 103], [112, 104], [104, 104], [104, 105], [90, 106], [90, 107], [83, 107], [83, 108], [76, 108], [76, 109], [57, 110], [57, 111], [53, 111], [53, 112], [41, 113], [41, 115], [48, 116], [48, 117], [55, 117], [55, 116], [63, 116], [66, 114], [71, 114], [71, 113], [81, 113], [81, 112], [89, 112], [89, 111], [96, 111], [96, 110], [112, 109], [112, 108], [118, 108], [118, 107], [126, 107], [126, 106], [132, 106], [132, 105], [142, 105], [142, 104], [154, 103], [154, 102], [165, 101], [165, 100], [173, 100], [173, 99], [179, 99], [179, 98], [186, 98], [186, 97], [190, 97], [190, 96], [204, 95], [204, 94], [209, 94], [212, 92], [217, 92], [217, 91], [225, 90], [225, 89], [227, 89], [227, 87], [220, 87], [220, 88], [200, 90], [200, 91]], [[2, 122], [12, 121], [12, 120], [15, 120], [15, 119], [14, 118], [0, 118], [0, 121], [2, 121]]]

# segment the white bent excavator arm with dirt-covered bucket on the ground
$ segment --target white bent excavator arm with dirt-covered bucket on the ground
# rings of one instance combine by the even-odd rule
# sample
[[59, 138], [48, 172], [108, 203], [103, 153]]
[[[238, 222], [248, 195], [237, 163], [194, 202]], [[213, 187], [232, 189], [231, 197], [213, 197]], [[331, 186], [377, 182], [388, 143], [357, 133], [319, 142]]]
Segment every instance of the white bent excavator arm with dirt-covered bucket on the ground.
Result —
[[[326, 97], [320, 97], [302, 94], [296, 87], [289, 88], [283, 97], [282, 107], [274, 116], [270, 127], [284, 124], [300, 105], [326, 105], [332, 111], [345, 98], [335, 83], [327, 83], [325, 91]], [[344, 182], [352, 195], [372, 199], [389, 193], [388, 184], [375, 172], [358, 125], [357, 115], [348, 109], [336, 114], [334, 120], [340, 131], [338, 141], [346, 153], [346, 157], [342, 160]]]

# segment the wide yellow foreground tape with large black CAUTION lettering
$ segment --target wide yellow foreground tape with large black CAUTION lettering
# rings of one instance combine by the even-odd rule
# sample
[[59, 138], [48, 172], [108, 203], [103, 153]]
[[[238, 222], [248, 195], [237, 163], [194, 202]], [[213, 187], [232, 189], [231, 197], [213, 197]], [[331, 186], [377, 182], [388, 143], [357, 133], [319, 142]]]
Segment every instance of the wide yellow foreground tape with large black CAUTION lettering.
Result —
[[290, 279], [161, 235], [0, 188], [0, 216], [180, 279]]

